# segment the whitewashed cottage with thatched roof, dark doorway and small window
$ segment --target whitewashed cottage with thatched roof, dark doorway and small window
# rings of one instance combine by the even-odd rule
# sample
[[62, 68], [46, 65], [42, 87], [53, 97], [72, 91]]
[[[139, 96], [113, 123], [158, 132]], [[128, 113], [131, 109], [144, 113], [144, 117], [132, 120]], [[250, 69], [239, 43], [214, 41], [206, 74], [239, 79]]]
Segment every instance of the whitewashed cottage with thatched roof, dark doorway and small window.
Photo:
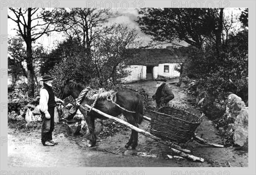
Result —
[[125, 82], [138, 80], [153, 80], [157, 76], [173, 78], [180, 76], [175, 71], [175, 66], [179, 66], [186, 59], [186, 53], [181, 48], [167, 49], [141, 49], [134, 54], [128, 68], [130, 75], [125, 78]]

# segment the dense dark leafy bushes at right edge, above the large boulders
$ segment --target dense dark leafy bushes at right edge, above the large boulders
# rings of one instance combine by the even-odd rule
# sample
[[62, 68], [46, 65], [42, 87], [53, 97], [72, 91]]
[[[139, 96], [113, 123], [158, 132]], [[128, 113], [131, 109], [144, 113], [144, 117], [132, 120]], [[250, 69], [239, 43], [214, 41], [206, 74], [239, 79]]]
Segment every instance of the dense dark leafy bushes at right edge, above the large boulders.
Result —
[[197, 79], [201, 87], [212, 96], [233, 92], [244, 102], [248, 100], [248, 32], [241, 31], [230, 36], [226, 50], [221, 57], [215, 56], [215, 50], [207, 52], [192, 51], [186, 64], [189, 78]]

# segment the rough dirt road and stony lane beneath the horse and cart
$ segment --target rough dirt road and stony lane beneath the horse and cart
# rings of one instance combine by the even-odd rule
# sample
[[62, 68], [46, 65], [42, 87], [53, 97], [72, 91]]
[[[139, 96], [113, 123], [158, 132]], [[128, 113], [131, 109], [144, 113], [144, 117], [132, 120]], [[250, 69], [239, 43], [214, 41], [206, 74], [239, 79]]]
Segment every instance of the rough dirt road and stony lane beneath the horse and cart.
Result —
[[[177, 82], [177, 79], [168, 80]], [[151, 96], [155, 93], [155, 82], [129, 84], [131, 88], [143, 87], [149, 94], [149, 104], [154, 105]], [[189, 108], [197, 115], [201, 111], [193, 107], [192, 97], [184, 93], [185, 89], [171, 85], [175, 106]], [[150, 114], [145, 111], [145, 116]], [[143, 121], [140, 128], [148, 130], [148, 121]], [[128, 151], [124, 145], [128, 141], [131, 129], [116, 124], [119, 129], [112, 136], [98, 138], [95, 147], [87, 147], [88, 140], [82, 136], [55, 135], [59, 144], [54, 147], [41, 145], [40, 130], [31, 133], [9, 128], [8, 165], [9, 167], [248, 167], [248, 152], [239, 147], [214, 148], [193, 141], [187, 145], [192, 155], [204, 158], [205, 162], [194, 162], [183, 158], [168, 158], [177, 155], [168, 146], [139, 134], [136, 150]], [[197, 129], [198, 135], [211, 143], [218, 144], [221, 137], [212, 121], [204, 117]]]

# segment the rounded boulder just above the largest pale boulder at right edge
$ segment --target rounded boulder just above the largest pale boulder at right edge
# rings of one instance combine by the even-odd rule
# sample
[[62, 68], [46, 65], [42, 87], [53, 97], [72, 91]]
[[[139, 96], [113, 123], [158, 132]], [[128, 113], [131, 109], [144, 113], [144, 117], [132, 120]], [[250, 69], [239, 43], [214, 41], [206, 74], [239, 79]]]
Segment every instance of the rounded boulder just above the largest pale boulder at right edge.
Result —
[[245, 107], [244, 102], [236, 94], [230, 94], [227, 97], [226, 113], [228, 114], [229, 117], [236, 118], [236, 116], [239, 114], [240, 110], [243, 107]]

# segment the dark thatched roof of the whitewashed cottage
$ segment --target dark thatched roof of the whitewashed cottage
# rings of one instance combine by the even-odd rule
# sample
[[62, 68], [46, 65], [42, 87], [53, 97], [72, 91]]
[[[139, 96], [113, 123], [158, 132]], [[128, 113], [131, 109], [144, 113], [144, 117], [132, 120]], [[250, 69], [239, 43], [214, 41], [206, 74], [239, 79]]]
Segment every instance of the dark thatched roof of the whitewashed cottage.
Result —
[[134, 53], [128, 65], [158, 66], [161, 63], [181, 63], [187, 57], [180, 48], [135, 49]]

